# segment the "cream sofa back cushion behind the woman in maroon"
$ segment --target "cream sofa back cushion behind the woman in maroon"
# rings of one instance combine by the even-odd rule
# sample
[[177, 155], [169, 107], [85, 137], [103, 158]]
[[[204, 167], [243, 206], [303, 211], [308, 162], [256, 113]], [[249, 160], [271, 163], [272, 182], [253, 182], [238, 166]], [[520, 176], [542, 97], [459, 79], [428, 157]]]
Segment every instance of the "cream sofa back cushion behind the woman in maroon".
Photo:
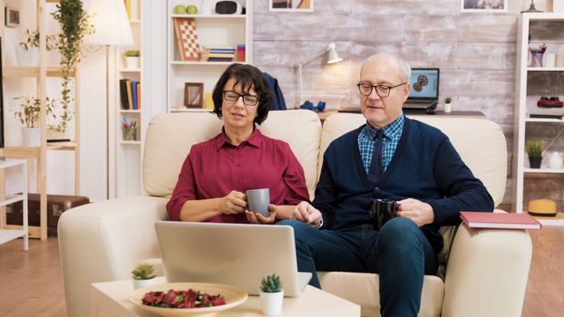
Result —
[[[298, 115], [297, 115], [298, 114]], [[166, 197], [176, 186], [180, 168], [193, 144], [215, 137], [222, 121], [209, 112], [169, 113], [151, 119], [143, 154], [143, 185], [151, 196]], [[270, 111], [258, 129], [286, 141], [306, 174], [313, 197], [321, 123], [310, 110]]]

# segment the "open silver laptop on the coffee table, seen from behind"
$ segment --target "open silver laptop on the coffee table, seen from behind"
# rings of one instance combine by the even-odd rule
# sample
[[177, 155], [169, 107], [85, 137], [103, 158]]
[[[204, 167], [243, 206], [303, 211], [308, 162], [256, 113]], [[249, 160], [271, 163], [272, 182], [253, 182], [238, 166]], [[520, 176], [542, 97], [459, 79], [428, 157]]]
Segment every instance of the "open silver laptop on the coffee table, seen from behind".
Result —
[[291, 226], [158, 221], [160, 255], [169, 283], [225, 283], [251, 295], [269, 274], [296, 297], [311, 279], [298, 273]]

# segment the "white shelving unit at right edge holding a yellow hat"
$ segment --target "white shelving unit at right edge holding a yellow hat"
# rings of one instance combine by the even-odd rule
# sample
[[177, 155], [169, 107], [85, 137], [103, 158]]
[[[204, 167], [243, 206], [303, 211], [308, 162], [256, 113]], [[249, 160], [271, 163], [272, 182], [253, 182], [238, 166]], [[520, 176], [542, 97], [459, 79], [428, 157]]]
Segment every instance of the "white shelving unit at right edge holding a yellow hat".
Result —
[[[516, 58], [516, 84], [515, 84], [515, 124], [513, 131], [513, 207], [517, 212], [523, 212], [523, 188], [527, 178], [539, 178], [543, 174], [552, 177], [561, 175], [564, 181], [564, 168], [547, 168], [544, 165], [541, 168], [529, 168], [529, 159], [525, 152], [526, 141], [530, 138], [536, 139], [528, 135], [528, 126], [533, 125], [556, 125], [557, 129], [561, 129], [564, 120], [561, 119], [536, 119], [530, 118], [529, 110], [537, 107], [536, 101], [540, 95], [533, 91], [531, 86], [531, 78], [548, 78], [549, 76], [561, 76], [564, 72], [563, 67], [528, 67], [529, 45], [538, 47], [542, 43], [547, 43], [548, 51], [551, 49], [558, 52], [564, 51], [564, 14], [541, 13], [541, 14], [521, 14], [518, 17], [518, 35], [517, 35], [517, 58]], [[558, 82], [558, 81], [554, 81]], [[538, 84], [538, 82], [534, 82]], [[562, 84], [560, 82], [560, 84]], [[556, 85], [556, 83], [554, 83]], [[564, 91], [564, 87], [546, 87], [546, 91]], [[560, 99], [563, 96], [560, 95]], [[537, 129], [538, 130], [538, 129]], [[548, 129], [546, 129], [548, 130]], [[553, 129], [554, 130], [554, 129]], [[556, 135], [549, 136], [545, 140], [545, 145], [554, 139]], [[549, 149], [552, 150], [552, 149]], [[546, 157], [546, 155], [545, 155]], [[544, 162], [548, 158], [543, 159]], [[561, 203], [561, 202], [560, 202]]]

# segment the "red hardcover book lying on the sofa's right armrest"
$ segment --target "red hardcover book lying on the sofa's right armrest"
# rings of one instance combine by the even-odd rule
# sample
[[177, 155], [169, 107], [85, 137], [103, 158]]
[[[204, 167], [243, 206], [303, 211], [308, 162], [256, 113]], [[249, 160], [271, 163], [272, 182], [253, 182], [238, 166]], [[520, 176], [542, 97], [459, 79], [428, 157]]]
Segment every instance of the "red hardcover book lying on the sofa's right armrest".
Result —
[[540, 229], [540, 222], [528, 214], [461, 211], [469, 228]]

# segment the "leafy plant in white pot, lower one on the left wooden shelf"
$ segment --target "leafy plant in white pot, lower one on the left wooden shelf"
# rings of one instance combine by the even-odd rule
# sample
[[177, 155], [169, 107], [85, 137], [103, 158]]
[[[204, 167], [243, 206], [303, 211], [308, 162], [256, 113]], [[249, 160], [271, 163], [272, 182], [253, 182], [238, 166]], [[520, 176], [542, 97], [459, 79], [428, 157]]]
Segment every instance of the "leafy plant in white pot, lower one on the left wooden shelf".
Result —
[[[22, 139], [25, 147], [39, 147], [41, 145], [41, 131], [39, 130], [39, 115], [41, 101], [35, 97], [16, 97], [20, 101], [20, 110], [15, 111], [14, 116], [22, 123]], [[45, 98], [47, 118], [55, 119], [53, 109], [56, 101]]]

